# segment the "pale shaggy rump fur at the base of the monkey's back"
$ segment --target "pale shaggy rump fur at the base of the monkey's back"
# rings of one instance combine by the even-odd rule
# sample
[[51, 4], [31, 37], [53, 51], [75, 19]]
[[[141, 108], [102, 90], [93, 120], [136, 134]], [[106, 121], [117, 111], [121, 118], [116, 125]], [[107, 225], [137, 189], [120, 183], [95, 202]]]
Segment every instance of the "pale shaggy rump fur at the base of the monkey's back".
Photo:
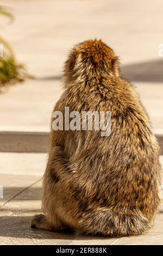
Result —
[[140, 210], [123, 211], [114, 207], [89, 210], [79, 223], [83, 233], [114, 237], [142, 234], [151, 227]]

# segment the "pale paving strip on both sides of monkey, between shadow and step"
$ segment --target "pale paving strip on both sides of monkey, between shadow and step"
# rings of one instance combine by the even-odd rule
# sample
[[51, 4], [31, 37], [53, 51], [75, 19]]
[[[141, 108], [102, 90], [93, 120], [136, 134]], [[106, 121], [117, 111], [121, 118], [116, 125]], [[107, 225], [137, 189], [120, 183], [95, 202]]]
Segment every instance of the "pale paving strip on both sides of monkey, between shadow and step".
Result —
[[[155, 132], [163, 133], [162, 94], [159, 83], [135, 82]], [[62, 94], [60, 81], [28, 80], [0, 94], [0, 131], [49, 132], [51, 114]]]

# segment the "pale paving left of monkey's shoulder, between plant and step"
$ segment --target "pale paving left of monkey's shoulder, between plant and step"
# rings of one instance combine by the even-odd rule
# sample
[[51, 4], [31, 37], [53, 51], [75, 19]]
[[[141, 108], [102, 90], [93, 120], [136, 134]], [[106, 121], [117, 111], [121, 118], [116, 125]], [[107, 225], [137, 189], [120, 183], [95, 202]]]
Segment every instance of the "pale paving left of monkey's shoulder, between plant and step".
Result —
[[60, 82], [28, 80], [0, 94], [0, 131], [49, 131]]

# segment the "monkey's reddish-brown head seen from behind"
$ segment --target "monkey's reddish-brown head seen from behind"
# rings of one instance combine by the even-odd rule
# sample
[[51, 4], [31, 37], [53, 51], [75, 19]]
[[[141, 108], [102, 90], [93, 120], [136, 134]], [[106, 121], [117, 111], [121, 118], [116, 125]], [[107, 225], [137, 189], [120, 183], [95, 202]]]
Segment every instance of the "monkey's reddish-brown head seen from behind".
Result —
[[109, 46], [97, 39], [74, 46], [65, 63], [66, 86], [106, 76], [119, 76], [118, 58]]

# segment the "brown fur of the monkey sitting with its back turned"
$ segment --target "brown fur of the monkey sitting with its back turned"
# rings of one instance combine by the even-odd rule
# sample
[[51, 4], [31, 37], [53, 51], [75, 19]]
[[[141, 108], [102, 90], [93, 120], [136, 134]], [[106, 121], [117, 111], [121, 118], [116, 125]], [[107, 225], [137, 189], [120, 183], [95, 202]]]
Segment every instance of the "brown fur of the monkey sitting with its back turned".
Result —
[[[101, 40], [85, 41], [65, 64], [65, 91], [54, 110], [111, 111], [111, 135], [51, 129], [43, 177], [44, 215], [32, 227], [86, 234], [142, 234], [158, 210], [159, 147], [134, 87]], [[52, 120], [53, 121], [53, 120]]]

